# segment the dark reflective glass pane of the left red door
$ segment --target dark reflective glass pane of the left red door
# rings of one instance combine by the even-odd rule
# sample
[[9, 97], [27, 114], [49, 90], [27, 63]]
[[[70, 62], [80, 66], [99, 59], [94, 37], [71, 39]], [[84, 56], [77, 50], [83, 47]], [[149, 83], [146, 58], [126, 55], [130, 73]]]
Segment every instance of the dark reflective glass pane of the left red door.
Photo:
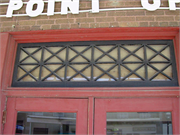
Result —
[[75, 134], [76, 113], [18, 112], [16, 134]]

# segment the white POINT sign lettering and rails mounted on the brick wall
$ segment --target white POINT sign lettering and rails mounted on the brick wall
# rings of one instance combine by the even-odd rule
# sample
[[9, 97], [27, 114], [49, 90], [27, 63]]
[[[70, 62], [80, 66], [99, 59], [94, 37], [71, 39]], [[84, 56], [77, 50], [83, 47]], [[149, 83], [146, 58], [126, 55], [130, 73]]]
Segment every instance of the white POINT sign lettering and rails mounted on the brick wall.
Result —
[[[91, 10], [81, 10], [79, 11], [79, 1], [80, 0], [29, 0], [28, 2], [23, 2], [22, 0], [10, 0], [9, 3], [1, 3], [0, 5], [8, 5], [6, 15], [0, 15], [0, 17], [12, 17], [12, 16], [30, 16], [36, 17], [39, 15], [52, 16], [54, 14], [79, 14], [79, 12], [92, 12], [98, 13], [99, 11], [112, 11], [112, 10], [139, 10], [146, 9], [148, 11], [155, 11], [157, 9], [169, 9], [176, 10], [180, 9], [176, 7], [176, 3], [180, 3], [180, 0], [168, 0], [169, 7], [160, 7], [161, 0], [153, 0], [153, 4], [150, 4], [148, 0], [141, 0], [142, 7], [134, 8], [111, 8], [111, 9], [99, 9], [99, 0], [92, 0], [92, 9]], [[61, 2], [61, 12], [54, 12], [55, 2]], [[45, 3], [47, 6], [47, 13], [43, 13]], [[13, 11], [19, 10], [23, 7], [23, 4], [26, 5], [26, 14], [13, 14]], [[33, 6], [37, 5], [37, 8], [33, 10]], [[68, 11], [68, 8], [70, 11]]]

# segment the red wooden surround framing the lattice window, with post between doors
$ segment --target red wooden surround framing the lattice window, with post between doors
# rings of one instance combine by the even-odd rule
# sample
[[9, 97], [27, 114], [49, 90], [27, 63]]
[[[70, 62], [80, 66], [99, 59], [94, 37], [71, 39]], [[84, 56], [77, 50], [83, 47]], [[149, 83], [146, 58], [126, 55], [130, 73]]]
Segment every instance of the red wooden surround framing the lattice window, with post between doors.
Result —
[[[97, 40], [162, 40], [174, 41], [175, 56], [180, 84], [179, 27], [96, 28], [45, 31], [21, 31], [0, 33], [1, 64], [0, 93], [3, 95], [1, 111], [7, 97], [37, 98], [88, 98], [88, 134], [93, 133], [94, 98], [147, 98], [180, 96], [180, 87], [118, 87], [118, 88], [14, 88], [11, 87], [13, 67], [18, 43], [97, 41]], [[3, 40], [2, 40], [3, 39]], [[5, 96], [4, 96], [5, 95]], [[2, 99], [1, 99], [2, 100]], [[10, 106], [10, 105], [9, 105]], [[7, 108], [8, 105], [7, 105]], [[179, 108], [179, 107], [178, 107]], [[1, 120], [1, 119], [0, 119]], [[2, 128], [1, 128], [2, 129]], [[1, 131], [0, 131], [1, 133]]]

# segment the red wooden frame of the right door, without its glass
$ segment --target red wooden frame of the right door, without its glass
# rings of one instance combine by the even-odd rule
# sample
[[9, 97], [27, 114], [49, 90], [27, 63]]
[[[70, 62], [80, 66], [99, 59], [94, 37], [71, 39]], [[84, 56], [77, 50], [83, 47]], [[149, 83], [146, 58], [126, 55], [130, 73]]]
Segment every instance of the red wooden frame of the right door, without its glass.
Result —
[[96, 99], [94, 134], [106, 135], [107, 112], [172, 112], [173, 134], [179, 135], [178, 98]]

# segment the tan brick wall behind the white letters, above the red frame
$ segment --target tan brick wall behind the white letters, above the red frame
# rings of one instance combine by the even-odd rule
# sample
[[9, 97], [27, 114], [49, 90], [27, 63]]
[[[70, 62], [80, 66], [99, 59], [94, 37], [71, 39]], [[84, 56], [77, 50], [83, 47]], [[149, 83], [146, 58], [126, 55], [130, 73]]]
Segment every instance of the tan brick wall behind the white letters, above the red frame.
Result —
[[[141, 0], [99, 0], [100, 9], [118, 7], [142, 7]], [[9, 2], [9, 0], [0, 0]], [[60, 2], [56, 2], [55, 11], [60, 12]], [[180, 7], [180, 4], [176, 5]], [[161, 7], [169, 7], [168, 0], [161, 0]], [[25, 13], [25, 5], [14, 13]], [[80, 10], [91, 9], [91, 0], [80, 0]], [[0, 14], [6, 14], [7, 6], [0, 7]], [[44, 12], [47, 11], [45, 5]], [[130, 10], [100, 11], [99, 13], [79, 13], [78, 15], [41, 15], [38, 17], [0, 18], [0, 31], [30, 31], [48, 29], [77, 29], [100, 27], [168, 27], [180, 26], [180, 10]]]

